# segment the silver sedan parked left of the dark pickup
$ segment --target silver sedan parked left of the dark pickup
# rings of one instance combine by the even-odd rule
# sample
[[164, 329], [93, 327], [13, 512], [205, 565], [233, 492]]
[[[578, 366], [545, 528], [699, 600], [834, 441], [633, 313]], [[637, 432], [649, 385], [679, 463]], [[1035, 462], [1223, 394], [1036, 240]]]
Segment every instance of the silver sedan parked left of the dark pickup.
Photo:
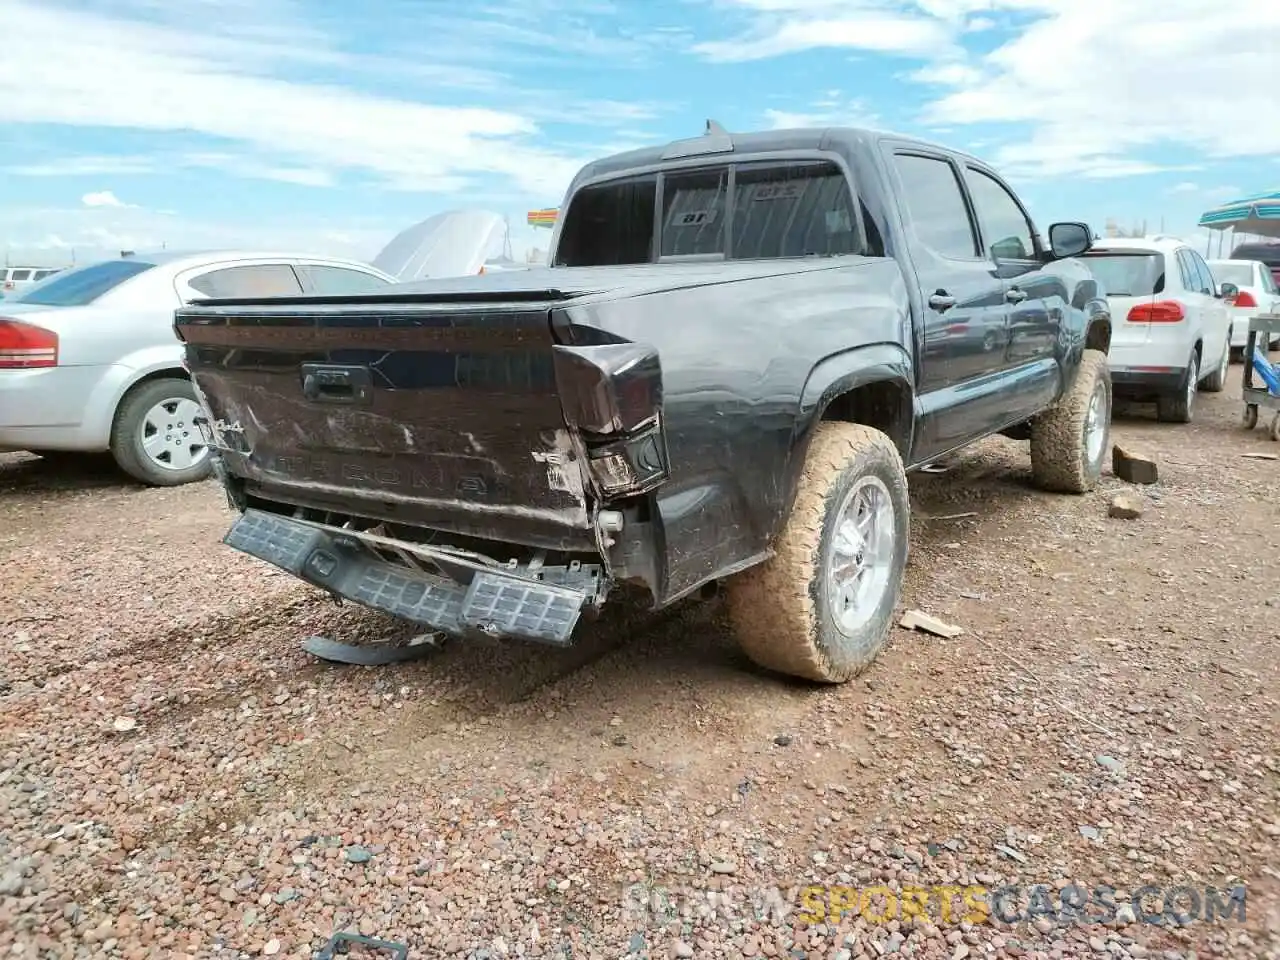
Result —
[[0, 449], [110, 452], [146, 484], [209, 475], [173, 311], [204, 297], [374, 293], [393, 279], [289, 253], [127, 256], [67, 270], [0, 303]]

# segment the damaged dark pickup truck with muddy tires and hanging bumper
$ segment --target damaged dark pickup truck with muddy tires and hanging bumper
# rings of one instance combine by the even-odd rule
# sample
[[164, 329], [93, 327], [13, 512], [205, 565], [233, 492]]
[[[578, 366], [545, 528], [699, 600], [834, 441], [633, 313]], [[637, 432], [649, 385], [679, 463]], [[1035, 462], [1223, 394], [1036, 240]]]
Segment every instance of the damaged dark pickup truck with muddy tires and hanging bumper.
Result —
[[708, 123], [585, 166], [548, 268], [186, 307], [225, 543], [461, 637], [723, 582], [756, 663], [845, 681], [910, 471], [1005, 434], [1042, 488], [1097, 483], [1111, 321], [1088, 227], [1047, 237], [952, 150]]

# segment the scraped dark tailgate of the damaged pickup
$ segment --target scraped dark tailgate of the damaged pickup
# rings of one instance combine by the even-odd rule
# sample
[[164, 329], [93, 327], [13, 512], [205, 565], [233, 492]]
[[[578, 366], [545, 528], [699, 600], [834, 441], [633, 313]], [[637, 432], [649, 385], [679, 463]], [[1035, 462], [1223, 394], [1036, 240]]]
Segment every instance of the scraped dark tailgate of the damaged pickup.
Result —
[[[518, 296], [518, 294], [517, 294]], [[586, 529], [557, 393], [553, 303], [211, 303], [175, 330], [229, 470], [372, 515]]]

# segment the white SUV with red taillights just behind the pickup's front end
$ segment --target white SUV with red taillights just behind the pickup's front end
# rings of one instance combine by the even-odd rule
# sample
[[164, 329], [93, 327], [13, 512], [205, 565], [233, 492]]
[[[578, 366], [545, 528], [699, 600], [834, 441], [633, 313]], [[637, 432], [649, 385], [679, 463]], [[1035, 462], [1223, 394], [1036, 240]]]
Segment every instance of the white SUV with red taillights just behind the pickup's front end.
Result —
[[1230, 311], [1203, 257], [1174, 237], [1115, 237], [1082, 260], [1111, 305], [1115, 394], [1190, 422], [1197, 389], [1221, 390], [1231, 362]]

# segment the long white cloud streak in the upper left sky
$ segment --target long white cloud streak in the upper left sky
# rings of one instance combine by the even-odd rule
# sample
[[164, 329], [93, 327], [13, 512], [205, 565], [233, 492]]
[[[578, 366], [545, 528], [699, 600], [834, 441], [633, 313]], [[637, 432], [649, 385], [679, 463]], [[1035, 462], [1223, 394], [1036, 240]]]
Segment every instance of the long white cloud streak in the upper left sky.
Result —
[[[232, 6], [232, 14], [243, 13], [243, 4]], [[340, 55], [319, 40], [308, 47], [310, 36], [276, 36], [268, 26], [246, 36], [237, 17], [230, 17], [236, 32], [218, 33], [49, 0], [6, 0], [5, 10], [6, 22], [23, 26], [22, 42], [6, 45], [0, 58], [0, 123], [201, 133], [237, 145], [228, 152], [265, 170], [355, 170], [444, 193], [490, 174], [554, 195], [585, 159], [540, 146], [535, 124], [509, 110], [273, 76], [282, 64]], [[223, 22], [218, 10], [212, 24]]]

